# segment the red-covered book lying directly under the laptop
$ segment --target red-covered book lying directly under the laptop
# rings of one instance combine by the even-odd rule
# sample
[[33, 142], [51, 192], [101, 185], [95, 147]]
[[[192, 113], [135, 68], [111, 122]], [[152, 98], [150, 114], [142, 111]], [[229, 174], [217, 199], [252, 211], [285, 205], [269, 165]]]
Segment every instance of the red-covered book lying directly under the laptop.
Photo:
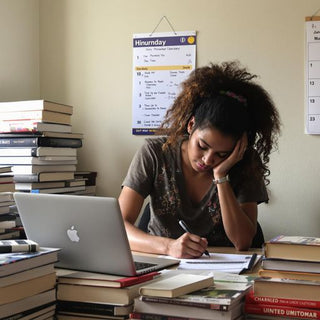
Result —
[[138, 283], [144, 283], [154, 279], [158, 275], [160, 275], [160, 273], [154, 271], [140, 276], [122, 277], [94, 272], [57, 269], [58, 283], [113, 288], [124, 288]]

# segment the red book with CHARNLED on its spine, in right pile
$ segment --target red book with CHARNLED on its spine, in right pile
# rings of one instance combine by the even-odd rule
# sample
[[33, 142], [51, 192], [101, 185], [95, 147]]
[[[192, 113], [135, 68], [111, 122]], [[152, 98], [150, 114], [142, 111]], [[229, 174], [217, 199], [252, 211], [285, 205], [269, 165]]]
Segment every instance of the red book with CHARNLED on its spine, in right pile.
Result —
[[320, 301], [255, 296], [253, 290], [249, 291], [245, 299], [246, 304], [268, 304], [273, 306], [320, 309]]

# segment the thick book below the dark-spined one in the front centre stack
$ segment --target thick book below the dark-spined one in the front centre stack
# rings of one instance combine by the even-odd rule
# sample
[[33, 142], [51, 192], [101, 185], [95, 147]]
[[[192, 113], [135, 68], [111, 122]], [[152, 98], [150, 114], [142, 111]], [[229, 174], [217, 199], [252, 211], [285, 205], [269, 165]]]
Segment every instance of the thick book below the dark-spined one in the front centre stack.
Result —
[[[237, 304], [228, 311], [210, 310], [205, 308], [197, 308], [193, 306], [180, 306], [167, 304], [165, 306], [160, 303], [145, 302], [136, 298], [134, 300], [134, 314], [153, 314], [157, 316], [181, 317], [184, 319], [203, 319], [203, 320], [233, 320], [242, 314], [243, 303]], [[132, 317], [132, 316], [131, 316]], [[161, 317], [161, 319], [162, 319]], [[147, 319], [147, 318], [138, 318]], [[156, 319], [156, 318], [150, 318]], [[163, 318], [166, 319], [166, 318]], [[168, 319], [168, 320], [169, 320]]]

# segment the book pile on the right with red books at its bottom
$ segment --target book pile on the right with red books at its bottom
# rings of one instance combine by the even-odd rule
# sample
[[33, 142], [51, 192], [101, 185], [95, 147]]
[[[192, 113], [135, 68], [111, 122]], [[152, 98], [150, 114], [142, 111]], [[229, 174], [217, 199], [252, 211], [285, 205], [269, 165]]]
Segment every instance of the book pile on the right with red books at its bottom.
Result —
[[264, 245], [248, 319], [320, 319], [320, 238], [278, 236]]

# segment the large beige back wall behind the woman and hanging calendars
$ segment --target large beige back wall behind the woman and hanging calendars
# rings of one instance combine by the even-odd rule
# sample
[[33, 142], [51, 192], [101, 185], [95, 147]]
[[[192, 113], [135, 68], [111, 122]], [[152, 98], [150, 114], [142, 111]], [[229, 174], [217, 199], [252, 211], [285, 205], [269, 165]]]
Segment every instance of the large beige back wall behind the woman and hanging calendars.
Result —
[[[13, 17], [0, 20], [10, 25], [1, 46], [10, 47], [11, 64], [19, 63], [19, 76], [6, 66], [5, 78], [21, 89], [17, 93], [10, 83], [1, 98], [32, 97], [38, 53], [25, 42], [37, 43], [37, 1], [3, 2]], [[28, 15], [17, 12], [25, 3]], [[131, 135], [132, 35], [151, 32], [166, 15], [175, 30], [198, 32], [198, 66], [240, 60], [260, 76], [279, 108], [283, 129], [271, 157], [270, 203], [259, 207], [266, 238], [320, 236], [320, 137], [304, 134], [304, 18], [317, 9], [317, 0], [40, 0], [40, 96], [75, 107], [74, 131], [85, 134], [79, 169], [98, 171], [98, 194], [118, 196], [143, 142]], [[21, 23], [27, 27], [18, 36]], [[170, 27], [163, 21], [157, 31]], [[27, 48], [16, 52], [19, 41]], [[30, 66], [33, 85], [25, 84]]]

